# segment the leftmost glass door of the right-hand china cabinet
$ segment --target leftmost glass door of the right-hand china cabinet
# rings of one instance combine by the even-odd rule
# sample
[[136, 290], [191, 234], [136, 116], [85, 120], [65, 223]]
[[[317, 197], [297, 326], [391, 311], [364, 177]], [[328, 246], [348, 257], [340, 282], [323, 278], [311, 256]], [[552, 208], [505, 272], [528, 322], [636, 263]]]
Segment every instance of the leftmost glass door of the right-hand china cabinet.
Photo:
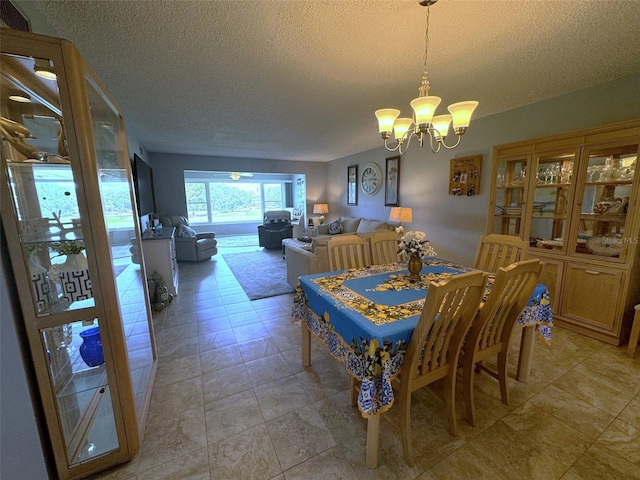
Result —
[[495, 168], [495, 213], [492, 233], [522, 234], [523, 204], [527, 191], [528, 156], [500, 160]]

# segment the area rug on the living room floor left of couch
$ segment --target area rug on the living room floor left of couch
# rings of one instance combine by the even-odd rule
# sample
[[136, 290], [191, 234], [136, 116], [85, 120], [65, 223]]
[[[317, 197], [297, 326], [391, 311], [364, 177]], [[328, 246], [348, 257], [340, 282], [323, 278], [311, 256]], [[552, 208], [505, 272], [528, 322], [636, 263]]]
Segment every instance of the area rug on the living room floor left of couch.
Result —
[[225, 253], [222, 257], [251, 300], [293, 292], [280, 249]]

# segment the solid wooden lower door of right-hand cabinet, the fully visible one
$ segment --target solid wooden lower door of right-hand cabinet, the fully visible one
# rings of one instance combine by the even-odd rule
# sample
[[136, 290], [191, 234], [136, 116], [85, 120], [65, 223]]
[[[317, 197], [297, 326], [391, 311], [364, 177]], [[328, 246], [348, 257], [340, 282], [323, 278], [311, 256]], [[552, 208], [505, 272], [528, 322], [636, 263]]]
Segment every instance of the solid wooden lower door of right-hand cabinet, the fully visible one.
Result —
[[616, 332], [624, 295], [624, 270], [567, 264], [560, 314], [606, 332]]

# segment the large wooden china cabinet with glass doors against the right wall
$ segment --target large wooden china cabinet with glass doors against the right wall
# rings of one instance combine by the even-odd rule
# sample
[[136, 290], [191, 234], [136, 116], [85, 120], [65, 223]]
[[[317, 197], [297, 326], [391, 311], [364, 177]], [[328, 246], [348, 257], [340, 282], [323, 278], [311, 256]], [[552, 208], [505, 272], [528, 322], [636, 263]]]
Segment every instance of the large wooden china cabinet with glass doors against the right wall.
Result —
[[488, 233], [529, 240], [558, 325], [615, 345], [640, 302], [640, 120], [494, 148]]

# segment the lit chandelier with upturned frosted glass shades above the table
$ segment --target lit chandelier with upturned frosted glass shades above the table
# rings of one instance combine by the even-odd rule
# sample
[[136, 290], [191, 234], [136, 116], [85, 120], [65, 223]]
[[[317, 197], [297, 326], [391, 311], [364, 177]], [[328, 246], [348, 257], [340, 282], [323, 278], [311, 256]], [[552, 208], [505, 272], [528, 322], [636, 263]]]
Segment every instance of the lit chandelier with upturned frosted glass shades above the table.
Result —
[[[453, 103], [447, 107], [450, 114], [433, 116], [440, 104], [441, 98], [429, 95], [429, 74], [427, 72], [427, 52], [429, 51], [429, 7], [438, 0], [419, 0], [418, 3], [427, 7], [427, 19], [424, 34], [424, 69], [418, 98], [411, 101], [413, 118], [398, 118], [400, 110], [383, 108], [376, 110], [380, 135], [384, 139], [384, 146], [390, 152], [398, 151], [404, 154], [409, 148], [411, 139], [416, 136], [422, 147], [429, 139], [429, 146], [433, 153], [438, 153], [441, 147], [455, 148], [460, 144], [462, 135], [467, 131], [471, 122], [471, 114], [478, 106], [476, 101]], [[449, 133], [449, 126], [453, 123], [453, 133], [458, 137], [455, 145], [447, 145], [445, 137]], [[390, 147], [387, 140], [393, 131], [396, 145]]]

